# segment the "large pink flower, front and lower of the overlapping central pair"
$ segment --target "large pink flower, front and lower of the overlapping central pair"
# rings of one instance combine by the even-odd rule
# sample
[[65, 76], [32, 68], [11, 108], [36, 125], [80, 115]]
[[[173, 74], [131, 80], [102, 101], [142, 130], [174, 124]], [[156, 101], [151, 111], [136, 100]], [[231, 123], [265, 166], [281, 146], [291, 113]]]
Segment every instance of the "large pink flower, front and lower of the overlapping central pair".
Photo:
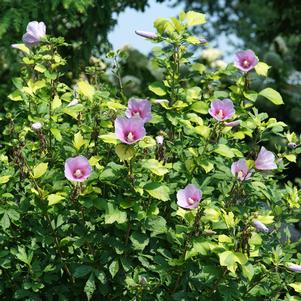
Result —
[[141, 118], [116, 118], [115, 134], [121, 142], [133, 144], [145, 136], [144, 122]]

